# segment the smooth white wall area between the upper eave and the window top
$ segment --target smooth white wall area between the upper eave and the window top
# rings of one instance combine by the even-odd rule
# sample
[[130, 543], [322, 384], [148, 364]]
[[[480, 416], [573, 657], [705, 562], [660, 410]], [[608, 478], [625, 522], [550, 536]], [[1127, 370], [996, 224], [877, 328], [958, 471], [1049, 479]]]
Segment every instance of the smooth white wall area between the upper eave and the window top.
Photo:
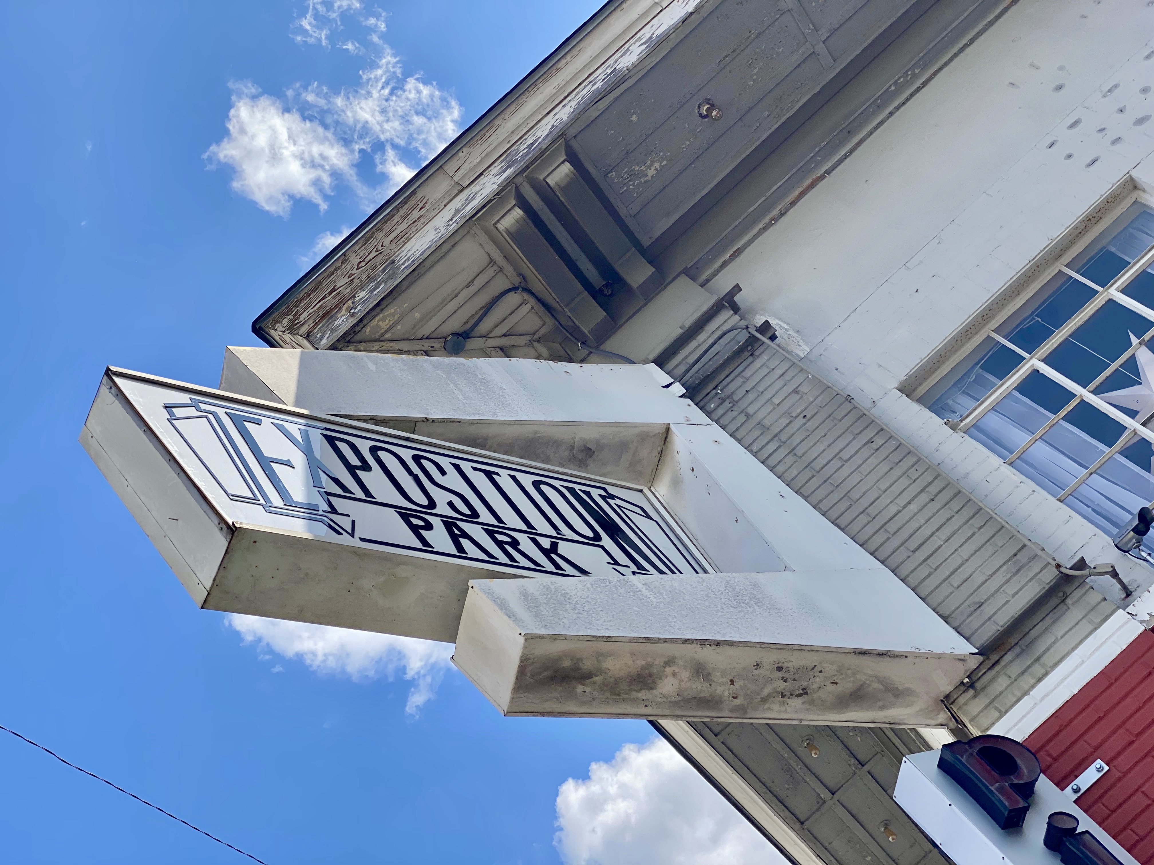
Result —
[[892, 388], [1154, 149], [1152, 24], [1145, 0], [1022, 0], [719, 278], [839, 389]]

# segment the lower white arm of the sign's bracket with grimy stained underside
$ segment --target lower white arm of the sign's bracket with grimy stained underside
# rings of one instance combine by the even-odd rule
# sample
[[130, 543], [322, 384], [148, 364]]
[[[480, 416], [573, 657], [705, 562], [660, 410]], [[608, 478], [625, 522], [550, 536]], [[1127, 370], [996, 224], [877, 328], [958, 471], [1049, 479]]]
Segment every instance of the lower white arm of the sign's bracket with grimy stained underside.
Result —
[[507, 715], [946, 727], [973, 652], [878, 569], [473, 580], [454, 661]]

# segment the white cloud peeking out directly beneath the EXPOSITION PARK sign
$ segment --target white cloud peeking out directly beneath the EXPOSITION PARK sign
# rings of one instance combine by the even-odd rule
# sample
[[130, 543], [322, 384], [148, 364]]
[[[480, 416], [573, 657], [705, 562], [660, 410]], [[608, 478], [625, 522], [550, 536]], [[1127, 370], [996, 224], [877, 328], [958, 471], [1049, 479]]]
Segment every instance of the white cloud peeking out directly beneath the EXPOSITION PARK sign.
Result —
[[451, 667], [449, 657], [452, 655], [452, 646], [448, 642], [241, 616], [235, 612], [230, 614], [226, 620], [240, 633], [246, 645], [255, 642], [258, 652], [268, 649], [287, 659], [304, 661], [316, 672], [367, 682], [382, 676], [391, 679], [403, 670], [404, 678], [413, 683], [405, 705], [405, 712], [410, 715], [417, 715], [421, 706], [433, 699], [444, 671]]

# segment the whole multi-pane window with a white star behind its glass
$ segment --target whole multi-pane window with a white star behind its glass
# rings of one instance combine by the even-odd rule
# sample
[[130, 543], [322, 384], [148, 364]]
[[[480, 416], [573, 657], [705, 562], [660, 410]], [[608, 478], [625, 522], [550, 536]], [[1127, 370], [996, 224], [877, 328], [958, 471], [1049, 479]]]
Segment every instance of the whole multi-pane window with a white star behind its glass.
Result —
[[1133, 204], [922, 403], [1114, 534], [1154, 503], [1154, 212]]

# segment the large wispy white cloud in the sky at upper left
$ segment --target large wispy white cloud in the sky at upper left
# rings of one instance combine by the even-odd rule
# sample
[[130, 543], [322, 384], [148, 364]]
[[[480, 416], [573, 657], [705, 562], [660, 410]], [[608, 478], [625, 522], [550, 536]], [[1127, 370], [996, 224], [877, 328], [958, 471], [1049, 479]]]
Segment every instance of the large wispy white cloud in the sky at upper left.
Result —
[[[287, 217], [293, 201], [322, 211], [338, 183], [369, 208], [391, 195], [460, 128], [460, 104], [420, 74], [404, 75], [400, 59], [381, 38], [384, 17], [368, 14], [361, 0], [309, 0], [293, 24], [299, 43], [329, 47], [332, 35], [352, 16], [366, 31], [368, 47], [354, 39], [339, 44], [367, 58], [355, 86], [334, 91], [320, 82], [297, 85], [284, 99], [262, 93], [252, 82], [233, 83], [228, 134], [208, 149], [210, 167], [233, 170], [232, 188], [270, 213]], [[382, 182], [358, 173], [372, 155]]]

